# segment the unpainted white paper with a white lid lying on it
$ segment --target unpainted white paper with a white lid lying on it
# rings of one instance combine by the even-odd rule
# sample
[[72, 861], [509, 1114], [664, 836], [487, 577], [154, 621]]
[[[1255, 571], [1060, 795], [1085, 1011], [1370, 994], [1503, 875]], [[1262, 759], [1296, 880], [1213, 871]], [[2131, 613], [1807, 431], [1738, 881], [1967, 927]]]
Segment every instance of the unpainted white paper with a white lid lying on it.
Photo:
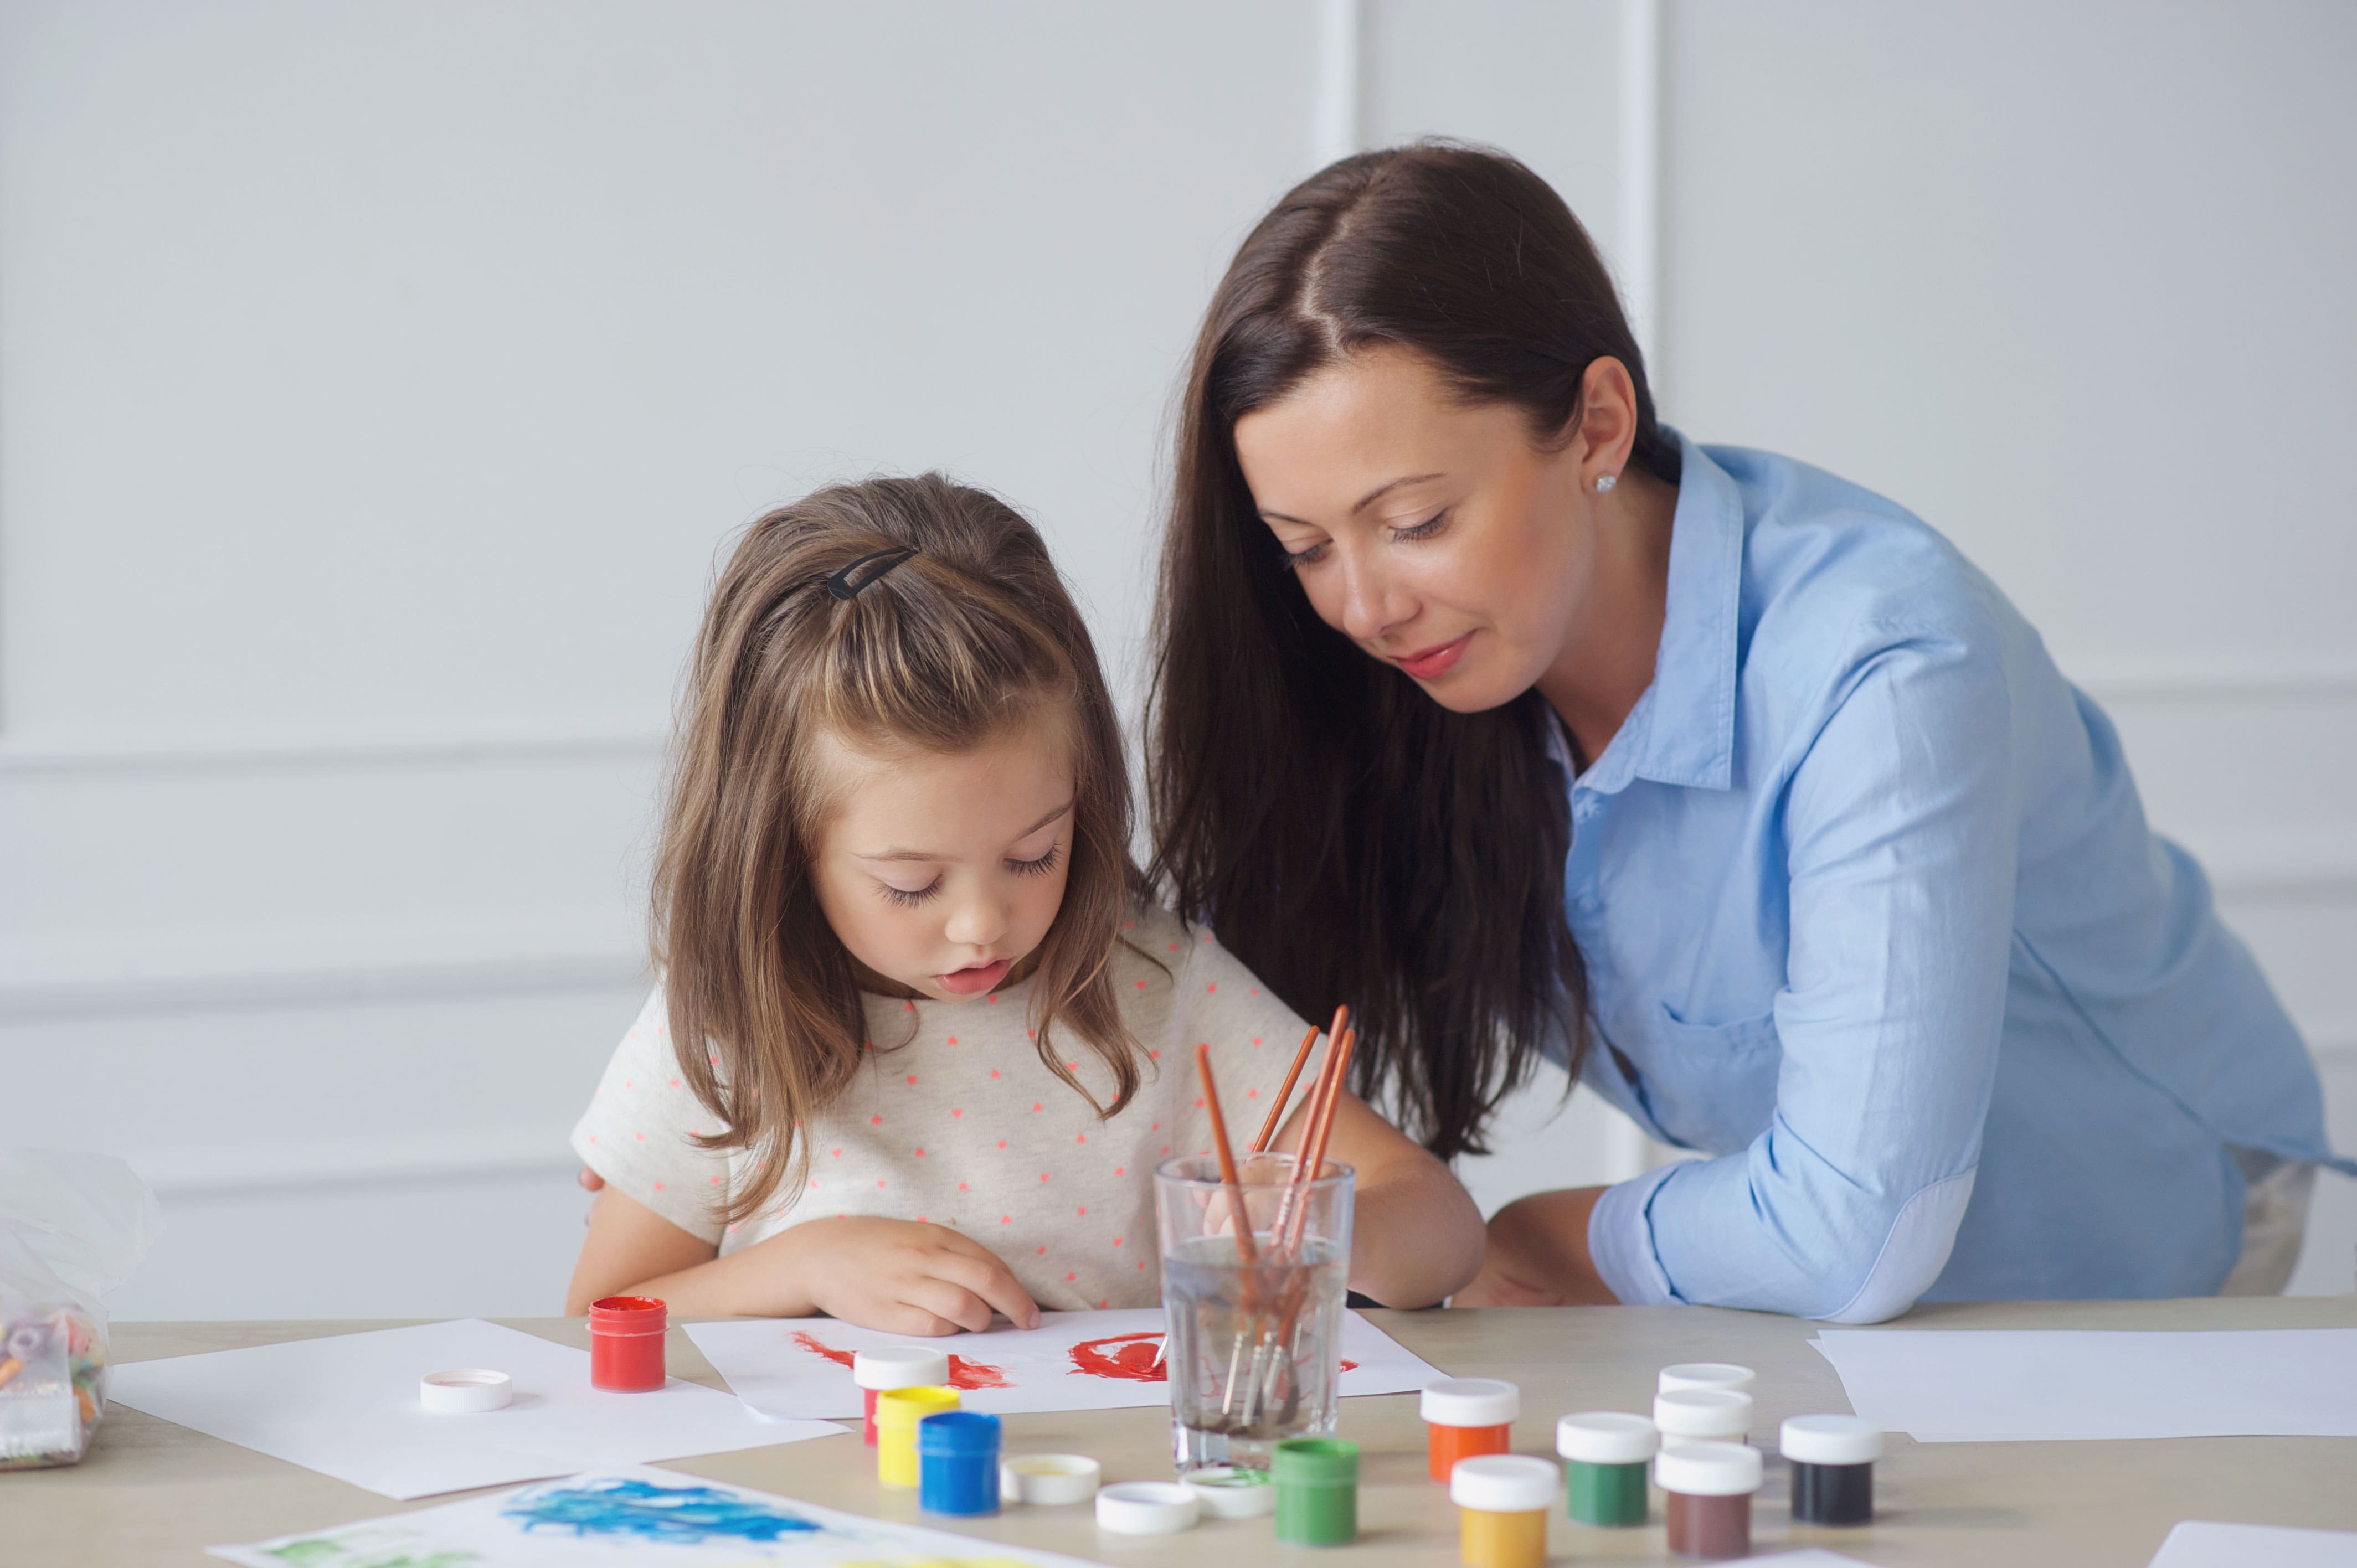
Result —
[[[417, 1403], [417, 1379], [445, 1368], [507, 1372], [516, 1398], [504, 1410], [434, 1415]], [[592, 1389], [587, 1351], [481, 1318], [132, 1361], [113, 1368], [106, 1394], [382, 1497], [844, 1431], [764, 1422], [719, 1389], [679, 1379], [646, 1394]]]

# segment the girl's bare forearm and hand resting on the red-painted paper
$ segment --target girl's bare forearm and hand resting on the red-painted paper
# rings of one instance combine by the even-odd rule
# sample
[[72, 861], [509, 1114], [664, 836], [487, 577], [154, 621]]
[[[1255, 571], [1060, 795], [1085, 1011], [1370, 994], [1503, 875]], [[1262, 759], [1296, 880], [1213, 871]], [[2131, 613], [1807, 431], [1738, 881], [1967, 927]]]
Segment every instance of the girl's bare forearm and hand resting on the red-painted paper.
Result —
[[719, 1257], [643, 1203], [608, 1186], [589, 1210], [566, 1313], [613, 1294], [660, 1297], [691, 1318], [827, 1313], [889, 1335], [985, 1330], [1004, 1313], [1039, 1325], [1016, 1276], [981, 1243], [907, 1219], [806, 1219]]

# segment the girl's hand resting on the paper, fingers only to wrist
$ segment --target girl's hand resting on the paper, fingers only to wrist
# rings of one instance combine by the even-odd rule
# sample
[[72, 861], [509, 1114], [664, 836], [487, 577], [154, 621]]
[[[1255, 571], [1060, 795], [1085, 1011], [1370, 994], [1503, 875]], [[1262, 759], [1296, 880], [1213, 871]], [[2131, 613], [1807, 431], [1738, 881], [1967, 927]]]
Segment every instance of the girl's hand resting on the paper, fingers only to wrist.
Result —
[[818, 1311], [886, 1335], [981, 1332], [1004, 1313], [1039, 1327], [1039, 1306], [999, 1257], [948, 1226], [915, 1219], [806, 1219], [745, 1247], [775, 1250]]

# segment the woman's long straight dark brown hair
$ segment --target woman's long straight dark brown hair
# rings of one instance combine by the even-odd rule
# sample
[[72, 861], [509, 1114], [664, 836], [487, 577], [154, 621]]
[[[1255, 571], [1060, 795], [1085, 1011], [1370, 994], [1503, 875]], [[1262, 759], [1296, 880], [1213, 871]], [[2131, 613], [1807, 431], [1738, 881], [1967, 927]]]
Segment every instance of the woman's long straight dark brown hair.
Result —
[[1645, 363], [1596, 248], [1504, 153], [1424, 141], [1343, 158], [1228, 264], [1188, 375], [1155, 615], [1148, 877], [1308, 1019], [1358, 1014], [1355, 1085], [1435, 1155], [1483, 1125], [1551, 1033], [1586, 1045], [1563, 917], [1570, 802], [1525, 691], [1457, 714], [1318, 620], [1235, 460], [1235, 422], [1369, 347], [1421, 354], [1551, 446], [1582, 375], [1636, 384], [1631, 462], [1676, 483]]

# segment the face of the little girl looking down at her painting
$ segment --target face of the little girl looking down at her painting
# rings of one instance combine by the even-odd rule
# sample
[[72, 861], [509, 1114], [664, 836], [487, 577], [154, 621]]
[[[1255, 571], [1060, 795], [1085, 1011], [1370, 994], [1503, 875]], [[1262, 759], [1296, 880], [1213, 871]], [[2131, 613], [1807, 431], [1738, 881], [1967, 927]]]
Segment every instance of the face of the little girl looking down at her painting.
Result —
[[1072, 747], [1051, 719], [955, 757], [823, 736], [834, 811], [811, 877], [860, 986], [988, 995], [1044, 938], [1072, 858]]

